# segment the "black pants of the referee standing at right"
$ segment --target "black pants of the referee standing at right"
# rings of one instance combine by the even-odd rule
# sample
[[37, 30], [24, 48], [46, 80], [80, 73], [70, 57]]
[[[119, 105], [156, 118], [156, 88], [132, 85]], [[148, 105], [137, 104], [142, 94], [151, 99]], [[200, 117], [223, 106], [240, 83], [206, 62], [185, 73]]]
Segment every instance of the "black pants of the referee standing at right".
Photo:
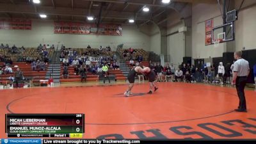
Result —
[[237, 77], [236, 79], [236, 91], [239, 97], [239, 107], [240, 110], [246, 110], [246, 99], [244, 95], [244, 87], [247, 81], [247, 77]]

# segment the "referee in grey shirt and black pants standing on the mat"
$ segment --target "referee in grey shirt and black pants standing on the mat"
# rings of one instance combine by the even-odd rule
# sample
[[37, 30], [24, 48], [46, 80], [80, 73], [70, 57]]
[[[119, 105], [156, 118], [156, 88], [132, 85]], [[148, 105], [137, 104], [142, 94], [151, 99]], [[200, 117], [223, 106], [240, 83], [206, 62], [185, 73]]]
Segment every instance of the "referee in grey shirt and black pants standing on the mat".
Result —
[[236, 84], [237, 95], [239, 97], [239, 106], [235, 111], [247, 112], [246, 110], [246, 100], [244, 95], [244, 87], [247, 81], [247, 76], [249, 75], [250, 68], [248, 61], [242, 58], [242, 51], [237, 51], [234, 53], [234, 58], [237, 60], [234, 63], [233, 70], [233, 84]]

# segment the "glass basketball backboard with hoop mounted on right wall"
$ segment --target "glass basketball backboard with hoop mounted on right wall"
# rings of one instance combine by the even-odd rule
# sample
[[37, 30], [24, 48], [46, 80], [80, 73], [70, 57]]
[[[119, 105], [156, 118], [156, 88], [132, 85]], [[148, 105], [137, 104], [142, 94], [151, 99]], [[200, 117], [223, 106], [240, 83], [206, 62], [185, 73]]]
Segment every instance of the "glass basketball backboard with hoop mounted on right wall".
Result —
[[212, 44], [214, 44], [216, 41], [221, 43], [231, 40], [234, 40], [233, 22], [212, 28]]

